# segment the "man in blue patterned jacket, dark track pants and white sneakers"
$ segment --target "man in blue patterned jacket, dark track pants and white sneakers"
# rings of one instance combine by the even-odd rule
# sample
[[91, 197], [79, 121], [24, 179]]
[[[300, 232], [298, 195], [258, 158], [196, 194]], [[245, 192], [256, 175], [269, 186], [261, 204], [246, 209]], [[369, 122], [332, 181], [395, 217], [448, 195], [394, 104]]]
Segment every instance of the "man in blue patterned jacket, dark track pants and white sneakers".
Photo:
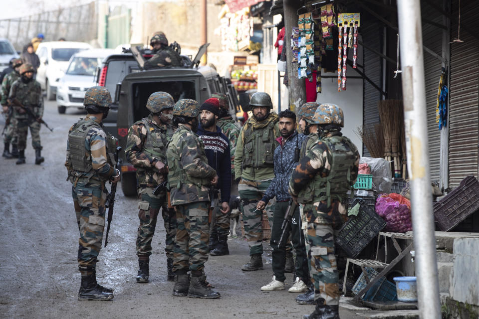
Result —
[[[285, 247], [279, 247], [284, 214], [288, 208], [291, 195], [288, 193], [289, 178], [299, 160], [299, 150], [306, 138], [295, 130], [296, 115], [290, 110], [279, 113], [279, 133], [281, 136], [276, 139], [279, 146], [274, 150], [274, 179], [269, 184], [263, 198], [257, 203], [257, 209], [264, 209], [270, 199], [276, 197], [276, 205], [273, 212], [273, 227], [271, 229], [270, 245], [272, 252], [272, 281], [261, 287], [262, 291], [284, 290], [284, 266], [286, 264]], [[295, 156], [297, 154], [297, 156]], [[296, 158], [295, 158], [296, 157]], [[289, 225], [287, 226], [289, 228]], [[288, 230], [289, 231], [289, 230]], [[299, 206], [296, 206], [291, 217], [291, 242], [296, 250], [296, 280], [289, 288], [290, 293], [300, 293], [307, 290], [309, 280], [306, 250], [304, 246], [304, 235], [301, 232]], [[283, 239], [284, 240], [284, 239]]]

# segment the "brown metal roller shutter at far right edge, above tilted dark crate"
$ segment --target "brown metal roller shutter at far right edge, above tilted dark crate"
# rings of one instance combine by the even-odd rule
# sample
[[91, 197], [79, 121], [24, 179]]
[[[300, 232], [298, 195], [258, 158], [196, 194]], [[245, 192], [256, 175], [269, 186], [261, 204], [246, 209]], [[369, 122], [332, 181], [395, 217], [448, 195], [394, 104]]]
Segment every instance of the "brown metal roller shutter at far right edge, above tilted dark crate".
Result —
[[[453, 2], [451, 41], [458, 37], [458, 2]], [[477, 0], [461, 1], [461, 25], [475, 25]], [[451, 44], [449, 107], [449, 185], [468, 176], [478, 177], [479, 39], [464, 29], [463, 43]]]

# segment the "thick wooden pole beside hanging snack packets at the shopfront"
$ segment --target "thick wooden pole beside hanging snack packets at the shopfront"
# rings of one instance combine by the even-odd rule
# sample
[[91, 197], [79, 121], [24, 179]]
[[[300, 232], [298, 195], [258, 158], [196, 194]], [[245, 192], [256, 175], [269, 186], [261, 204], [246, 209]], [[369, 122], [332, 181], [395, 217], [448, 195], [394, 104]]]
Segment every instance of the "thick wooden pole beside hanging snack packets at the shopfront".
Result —
[[286, 50], [286, 65], [288, 70], [289, 109], [296, 112], [306, 102], [306, 88], [304, 79], [298, 79], [298, 65], [292, 63], [293, 52], [291, 51], [291, 31], [293, 26], [298, 25], [297, 11], [301, 7], [301, 1], [284, 0], [284, 46]]

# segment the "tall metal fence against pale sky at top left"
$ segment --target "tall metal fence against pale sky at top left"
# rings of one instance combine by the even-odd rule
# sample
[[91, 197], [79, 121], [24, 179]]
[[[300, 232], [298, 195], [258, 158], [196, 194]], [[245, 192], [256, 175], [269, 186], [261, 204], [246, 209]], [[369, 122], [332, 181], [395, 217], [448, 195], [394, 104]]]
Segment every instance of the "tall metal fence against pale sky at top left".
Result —
[[45, 11], [19, 18], [0, 20], [0, 37], [7, 38], [17, 51], [30, 42], [38, 33], [43, 41], [89, 42], [97, 38], [97, 1], [84, 5]]

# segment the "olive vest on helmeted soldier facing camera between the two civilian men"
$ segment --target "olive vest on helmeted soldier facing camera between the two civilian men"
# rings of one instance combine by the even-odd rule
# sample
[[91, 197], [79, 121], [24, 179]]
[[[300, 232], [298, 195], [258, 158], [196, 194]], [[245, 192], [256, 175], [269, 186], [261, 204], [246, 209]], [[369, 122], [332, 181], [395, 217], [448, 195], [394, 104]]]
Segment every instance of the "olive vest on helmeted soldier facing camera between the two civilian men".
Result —
[[276, 145], [274, 144], [274, 125], [269, 124], [259, 130], [253, 130], [248, 125], [244, 131], [243, 168], [245, 167], [273, 167], [273, 154]]

